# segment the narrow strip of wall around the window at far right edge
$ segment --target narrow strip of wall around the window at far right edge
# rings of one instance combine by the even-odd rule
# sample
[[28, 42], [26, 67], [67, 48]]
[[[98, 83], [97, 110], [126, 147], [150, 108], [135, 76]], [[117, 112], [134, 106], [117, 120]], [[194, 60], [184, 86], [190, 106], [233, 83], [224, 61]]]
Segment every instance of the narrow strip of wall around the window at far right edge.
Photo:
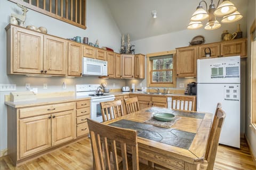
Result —
[[253, 23], [253, 21], [256, 18], [256, 11], [255, 11], [255, 0], [248, 0], [248, 10], [247, 10], [247, 37], [248, 37], [248, 41], [247, 41], [247, 54], [248, 54], [248, 58], [246, 61], [246, 114], [245, 114], [245, 135], [248, 139], [248, 142], [250, 143], [251, 146], [251, 150], [252, 153], [254, 155], [254, 159], [256, 160], [256, 132], [252, 130], [252, 128], [250, 128], [250, 124], [251, 124], [251, 37], [250, 37], [250, 27]]

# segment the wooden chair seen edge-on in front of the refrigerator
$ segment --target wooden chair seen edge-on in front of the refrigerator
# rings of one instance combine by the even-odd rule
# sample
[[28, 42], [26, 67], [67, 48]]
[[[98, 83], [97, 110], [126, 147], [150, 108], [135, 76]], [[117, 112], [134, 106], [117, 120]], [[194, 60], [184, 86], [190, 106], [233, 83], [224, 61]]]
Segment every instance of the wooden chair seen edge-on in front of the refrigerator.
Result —
[[226, 117], [226, 113], [220, 107], [221, 105], [218, 104], [213, 118], [209, 139], [207, 141], [204, 164], [201, 164], [201, 169], [212, 170], [214, 166], [220, 132]]

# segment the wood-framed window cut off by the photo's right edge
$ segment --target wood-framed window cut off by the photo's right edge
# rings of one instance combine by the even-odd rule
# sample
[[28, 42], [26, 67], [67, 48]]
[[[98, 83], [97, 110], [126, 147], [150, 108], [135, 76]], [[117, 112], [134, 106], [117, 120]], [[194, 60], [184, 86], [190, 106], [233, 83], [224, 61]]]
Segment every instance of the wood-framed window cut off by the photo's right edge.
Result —
[[256, 129], [256, 32], [255, 32], [255, 20], [252, 24], [251, 30], [251, 57], [252, 57], [252, 65], [251, 65], [251, 120], [254, 128]]

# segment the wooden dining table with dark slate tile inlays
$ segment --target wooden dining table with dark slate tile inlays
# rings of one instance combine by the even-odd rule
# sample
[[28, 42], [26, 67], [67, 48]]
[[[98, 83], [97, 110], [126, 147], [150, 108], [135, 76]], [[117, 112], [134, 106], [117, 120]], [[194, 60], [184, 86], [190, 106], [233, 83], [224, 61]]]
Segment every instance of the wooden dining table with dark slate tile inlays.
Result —
[[[155, 113], [170, 113], [176, 120], [163, 128], [150, 122], [156, 121]], [[198, 169], [204, 162], [212, 117], [211, 113], [148, 107], [104, 123], [137, 130], [140, 158], [170, 169]]]

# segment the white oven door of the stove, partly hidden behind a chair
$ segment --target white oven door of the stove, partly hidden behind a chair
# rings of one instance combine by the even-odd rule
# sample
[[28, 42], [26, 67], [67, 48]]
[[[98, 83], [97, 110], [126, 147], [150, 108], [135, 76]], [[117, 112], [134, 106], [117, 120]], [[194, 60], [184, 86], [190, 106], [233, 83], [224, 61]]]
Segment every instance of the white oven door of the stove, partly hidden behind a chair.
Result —
[[102, 114], [100, 103], [104, 101], [113, 101], [115, 97], [105, 97], [105, 98], [96, 98], [91, 99], [91, 119], [94, 121], [102, 122]]

